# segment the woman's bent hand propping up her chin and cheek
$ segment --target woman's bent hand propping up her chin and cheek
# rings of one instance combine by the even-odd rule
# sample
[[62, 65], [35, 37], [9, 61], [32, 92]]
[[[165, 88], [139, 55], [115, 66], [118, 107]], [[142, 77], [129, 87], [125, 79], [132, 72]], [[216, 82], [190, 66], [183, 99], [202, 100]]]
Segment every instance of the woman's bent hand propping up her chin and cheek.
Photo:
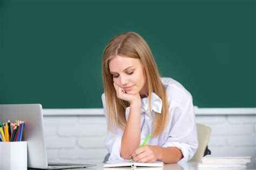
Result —
[[139, 93], [136, 95], [132, 94], [127, 94], [125, 90], [122, 87], [119, 87], [116, 83], [114, 84], [114, 89], [117, 91], [117, 97], [129, 102], [130, 104], [135, 103], [135, 102], [140, 102], [140, 95]]

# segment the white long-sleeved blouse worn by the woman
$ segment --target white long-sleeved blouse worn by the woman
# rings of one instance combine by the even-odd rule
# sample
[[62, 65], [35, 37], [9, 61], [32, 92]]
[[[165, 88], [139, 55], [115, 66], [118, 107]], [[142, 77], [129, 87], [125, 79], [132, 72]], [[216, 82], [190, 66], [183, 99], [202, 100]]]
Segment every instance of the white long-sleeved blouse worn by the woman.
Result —
[[[177, 147], [183, 153], [181, 161], [190, 160], [197, 151], [198, 138], [194, 116], [193, 102], [191, 94], [176, 80], [171, 78], [161, 78], [163, 82], [167, 101], [169, 103], [169, 121], [163, 133], [156, 138], [150, 138], [146, 145], [157, 145], [161, 147]], [[104, 114], [106, 116], [105, 95], [102, 95]], [[153, 130], [153, 118], [156, 112], [160, 113], [162, 108], [161, 99], [152, 93], [152, 115], [149, 110], [149, 98], [142, 98], [142, 110], [140, 116], [141, 139], [140, 144]], [[126, 121], [129, 116], [130, 107], [126, 108]], [[113, 133], [107, 128], [105, 147], [110, 153], [109, 160], [123, 159], [120, 156], [121, 140], [124, 130], [116, 127]]]

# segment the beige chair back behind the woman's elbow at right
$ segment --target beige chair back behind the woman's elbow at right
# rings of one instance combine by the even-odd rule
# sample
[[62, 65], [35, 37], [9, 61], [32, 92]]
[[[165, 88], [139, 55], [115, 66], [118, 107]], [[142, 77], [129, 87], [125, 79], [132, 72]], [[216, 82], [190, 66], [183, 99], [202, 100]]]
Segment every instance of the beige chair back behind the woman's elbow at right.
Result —
[[197, 123], [198, 149], [190, 161], [199, 161], [204, 157], [211, 131], [210, 127]]

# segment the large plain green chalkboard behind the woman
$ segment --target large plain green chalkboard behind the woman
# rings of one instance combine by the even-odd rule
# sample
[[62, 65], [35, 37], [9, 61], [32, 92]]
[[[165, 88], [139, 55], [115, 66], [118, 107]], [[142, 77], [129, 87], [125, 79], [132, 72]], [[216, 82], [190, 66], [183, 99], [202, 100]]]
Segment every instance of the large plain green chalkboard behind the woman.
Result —
[[256, 1], [0, 1], [0, 103], [102, 108], [116, 34], [148, 42], [161, 76], [204, 108], [256, 107]]

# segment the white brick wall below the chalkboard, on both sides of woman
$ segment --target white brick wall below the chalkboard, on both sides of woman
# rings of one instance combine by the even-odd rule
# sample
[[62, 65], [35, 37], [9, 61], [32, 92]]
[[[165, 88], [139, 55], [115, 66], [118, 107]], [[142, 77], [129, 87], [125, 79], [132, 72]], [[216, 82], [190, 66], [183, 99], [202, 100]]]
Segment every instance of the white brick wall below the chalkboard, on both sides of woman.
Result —
[[[62, 114], [59, 110], [44, 109], [48, 160], [83, 164], [102, 162], [107, 154], [104, 147], [106, 135], [104, 115], [81, 114], [82, 111], [79, 110], [79, 114], [74, 113], [72, 116], [72, 111], [76, 112], [73, 109], [69, 110], [68, 114], [65, 111], [65, 114]], [[239, 115], [237, 110], [234, 111], [236, 112], [234, 115], [232, 113], [196, 114], [196, 122], [212, 128], [208, 143], [212, 154], [249, 155], [255, 160], [256, 112], [253, 110], [250, 115]]]

